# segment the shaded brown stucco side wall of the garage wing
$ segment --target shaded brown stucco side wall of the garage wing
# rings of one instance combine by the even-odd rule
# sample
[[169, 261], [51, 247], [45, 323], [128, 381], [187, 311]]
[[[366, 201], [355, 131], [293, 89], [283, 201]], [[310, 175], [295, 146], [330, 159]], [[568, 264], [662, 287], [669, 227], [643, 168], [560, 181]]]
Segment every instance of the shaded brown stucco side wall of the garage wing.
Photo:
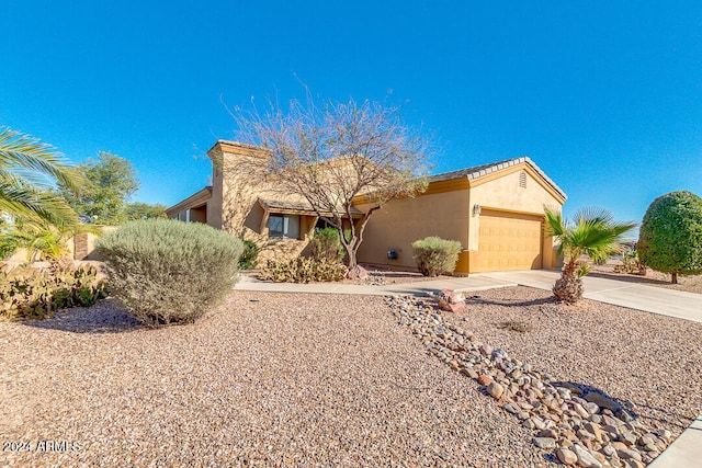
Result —
[[[369, 220], [359, 248], [362, 263], [389, 267], [416, 269], [411, 243], [428, 236], [468, 242], [468, 191], [420, 195], [395, 199], [376, 210]], [[360, 205], [365, 212], [367, 205]], [[397, 260], [387, 259], [388, 249], [396, 249]]]

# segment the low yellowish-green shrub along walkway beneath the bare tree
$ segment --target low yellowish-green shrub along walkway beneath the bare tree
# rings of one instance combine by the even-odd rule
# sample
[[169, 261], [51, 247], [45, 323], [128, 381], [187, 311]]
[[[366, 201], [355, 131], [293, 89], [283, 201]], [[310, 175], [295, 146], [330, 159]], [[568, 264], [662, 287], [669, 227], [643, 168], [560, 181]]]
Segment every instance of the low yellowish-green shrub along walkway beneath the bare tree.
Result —
[[298, 256], [292, 260], [269, 260], [261, 269], [259, 279], [273, 283], [309, 283], [341, 281], [348, 272], [340, 262]]

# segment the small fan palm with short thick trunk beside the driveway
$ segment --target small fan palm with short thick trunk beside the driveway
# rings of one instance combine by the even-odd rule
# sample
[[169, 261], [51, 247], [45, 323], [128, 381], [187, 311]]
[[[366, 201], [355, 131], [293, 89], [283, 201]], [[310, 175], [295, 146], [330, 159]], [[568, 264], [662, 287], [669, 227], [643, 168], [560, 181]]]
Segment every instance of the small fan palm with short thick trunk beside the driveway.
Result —
[[564, 255], [562, 274], [553, 286], [553, 294], [563, 301], [575, 304], [582, 298], [582, 276], [590, 271], [582, 256], [604, 263], [610, 255], [621, 251], [622, 235], [636, 224], [616, 222], [610, 212], [601, 208], [579, 209], [573, 224], [565, 221], [561, 212], [546, 208], [545, 213], [546, 231], [558, 241], [558, 254]]

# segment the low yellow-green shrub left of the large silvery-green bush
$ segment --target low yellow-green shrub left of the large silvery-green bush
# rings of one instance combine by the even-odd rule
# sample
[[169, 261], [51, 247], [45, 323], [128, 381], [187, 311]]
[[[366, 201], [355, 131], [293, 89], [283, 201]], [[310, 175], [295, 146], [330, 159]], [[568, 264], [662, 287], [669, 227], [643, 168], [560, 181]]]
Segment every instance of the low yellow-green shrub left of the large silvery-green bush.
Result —
[[49, 318], [68, 307], [89, 307], [106, 296], [105, 281], [92, 265], [53, 262], [39, 270], [26, 264], [0, 272], [0, 317]]

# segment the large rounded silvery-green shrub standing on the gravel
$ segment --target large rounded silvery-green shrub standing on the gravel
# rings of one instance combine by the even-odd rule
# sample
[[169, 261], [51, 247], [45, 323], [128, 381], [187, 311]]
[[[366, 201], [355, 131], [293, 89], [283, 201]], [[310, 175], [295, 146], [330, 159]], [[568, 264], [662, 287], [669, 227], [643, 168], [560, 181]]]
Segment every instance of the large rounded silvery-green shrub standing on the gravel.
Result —
[[98, 240], [111, 293], [149, 327], [203, 316], [237, 282], [241, 241], [199, 222], [133, 221]]

